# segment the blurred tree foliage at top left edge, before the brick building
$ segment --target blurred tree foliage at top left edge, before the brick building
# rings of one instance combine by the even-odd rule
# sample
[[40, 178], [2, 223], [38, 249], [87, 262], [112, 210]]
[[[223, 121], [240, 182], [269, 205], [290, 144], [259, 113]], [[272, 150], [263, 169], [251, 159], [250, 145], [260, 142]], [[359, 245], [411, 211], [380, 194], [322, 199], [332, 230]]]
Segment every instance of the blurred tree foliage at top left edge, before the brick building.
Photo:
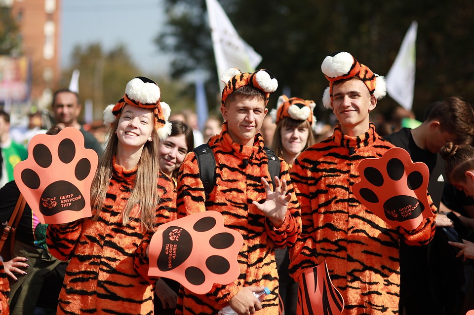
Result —
[[0, 55], [20, 53], [19, 28], [11, 8], [0, 6]]

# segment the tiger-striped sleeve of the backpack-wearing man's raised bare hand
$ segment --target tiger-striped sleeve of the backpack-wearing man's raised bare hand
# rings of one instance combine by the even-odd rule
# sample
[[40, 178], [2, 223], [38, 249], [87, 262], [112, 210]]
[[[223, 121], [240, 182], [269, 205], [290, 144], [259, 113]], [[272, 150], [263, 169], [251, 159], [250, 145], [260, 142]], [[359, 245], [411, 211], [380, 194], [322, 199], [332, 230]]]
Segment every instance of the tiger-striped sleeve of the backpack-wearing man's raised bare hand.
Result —
[[296, 194], [293, 188], [293, 184], [290, 179], [288, 172], [288, 164], [284, 160], [280, 159], [280, 184], [282, 180], [286, 181], [287, 194], [291, 194], [291, 199], [288, 202], [285, 219], [283, 224], [279, 228], [275, 228], [270, 220], [265, 220], [265, 228], [275, 243], [276, 248], [291, 247], [295, 244], [298, 239], [298, 235], [301, 233], [301, 211]]

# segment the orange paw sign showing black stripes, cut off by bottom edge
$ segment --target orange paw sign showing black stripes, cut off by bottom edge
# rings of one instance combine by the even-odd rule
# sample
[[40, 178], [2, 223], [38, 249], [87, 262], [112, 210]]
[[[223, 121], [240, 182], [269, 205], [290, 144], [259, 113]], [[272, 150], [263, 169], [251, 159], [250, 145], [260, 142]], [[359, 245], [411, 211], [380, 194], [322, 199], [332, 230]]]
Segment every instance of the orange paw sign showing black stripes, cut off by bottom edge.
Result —
[[332, 284], [325, 260], [324, 263], [305, 270], [298, 283], [297, 315], [335, 315], [344, 310], [344, 299]]

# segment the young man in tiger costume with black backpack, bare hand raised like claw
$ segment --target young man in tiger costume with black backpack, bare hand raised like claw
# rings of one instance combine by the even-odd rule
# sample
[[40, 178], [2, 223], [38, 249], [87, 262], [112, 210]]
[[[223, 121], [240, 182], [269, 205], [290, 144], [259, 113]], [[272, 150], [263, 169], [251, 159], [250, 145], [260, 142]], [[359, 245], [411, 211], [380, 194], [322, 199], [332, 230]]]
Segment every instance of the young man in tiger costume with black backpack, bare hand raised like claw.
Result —
[[[205, 193], [196, 152], [190, 152], [178, 174], [177, 207], [178, 217], [219, 211], [224, 225], [242, 234], [244, 242], [237, 256], [240, 275], [228, 285], [214, 285], [204, 295], [181, 287], [176, 314], [217, 314], [230, 305], [239, 315], [257, 311], [260, 315], [275, 315], [275, 248], [293, 245], [301, 231], [287, 165], [279, 160], [279, 176], [275, 176], [276, 184], [271, 188], [269, 158], [259, 133], [277, 82], [267, 70], [242, 73], [236, 68], [224, 72], [222, 81], [226, 86], [220, 109], [225, 122], [222, 132], [207, 142], [215, 157], [215, 185]], [[260, 303], [252, 293], [264, 286], [271, 293]]]

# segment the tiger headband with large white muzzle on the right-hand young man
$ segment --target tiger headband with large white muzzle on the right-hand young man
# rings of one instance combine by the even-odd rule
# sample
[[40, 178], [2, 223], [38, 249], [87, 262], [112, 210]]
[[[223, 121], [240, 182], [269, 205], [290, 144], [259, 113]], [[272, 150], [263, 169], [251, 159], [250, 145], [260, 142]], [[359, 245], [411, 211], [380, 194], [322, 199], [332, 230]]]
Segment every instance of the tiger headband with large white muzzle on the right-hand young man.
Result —
[[334, 82], [339, 80], [359, 78], [377, 100], [382, 99], [387, 94], [385, 78], [359, 63], [348, 52], [336, 52], [326, 56], [321, 64], [321, 71], [329, 81], [329, 87], [324, 90], [322, 97], [322, 104], [326, 108], [331, 108], [331, 102], [334, 101], [332, 87]]

